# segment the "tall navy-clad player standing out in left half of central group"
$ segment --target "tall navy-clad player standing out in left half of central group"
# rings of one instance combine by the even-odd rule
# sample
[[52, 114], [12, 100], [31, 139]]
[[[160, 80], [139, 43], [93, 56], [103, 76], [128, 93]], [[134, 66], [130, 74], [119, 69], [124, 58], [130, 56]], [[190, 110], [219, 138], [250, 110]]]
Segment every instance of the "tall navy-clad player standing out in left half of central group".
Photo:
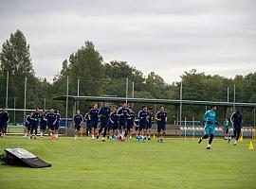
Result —
[[99, 116], [100, 116], [100, 119], [101, 119], [101, 128], [99, 129], [97, 139], [99, 138], [102, 130], [104, 129], [102, 142], [105, 142], [106, 131], [109, 128], [110, 112], [111, 112], [111, 110], [109, 108], [109, 102], [106, 101], [106, 102], [104, 102], [104, 106], [101, 107], [101, 109], [99, 111]]

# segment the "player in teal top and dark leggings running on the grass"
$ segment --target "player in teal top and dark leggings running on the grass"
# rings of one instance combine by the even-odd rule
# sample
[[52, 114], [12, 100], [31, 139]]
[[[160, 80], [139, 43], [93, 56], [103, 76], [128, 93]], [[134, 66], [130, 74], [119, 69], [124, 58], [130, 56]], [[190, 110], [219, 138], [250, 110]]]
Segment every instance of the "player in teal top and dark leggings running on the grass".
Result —
[[205, 122], [205, 133], [198, 141], [198, 144], [200, 144], [203, 139], [207, 139], [210, 136], [209, 144], [207, 146], [207, 149], [210, 149], [211, 142], [213, 140], [214, 130], [215, 130], [215, 117], [216, 117], [216, 106], [211, 105], [210, 111], [206, 112], [203, 118], [203, 121]]

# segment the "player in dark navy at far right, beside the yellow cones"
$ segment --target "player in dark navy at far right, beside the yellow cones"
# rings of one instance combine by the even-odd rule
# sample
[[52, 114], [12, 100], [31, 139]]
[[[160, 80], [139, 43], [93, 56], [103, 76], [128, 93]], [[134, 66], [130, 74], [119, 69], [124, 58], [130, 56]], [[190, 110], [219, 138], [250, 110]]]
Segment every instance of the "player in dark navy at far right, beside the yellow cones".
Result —
[[[241, 128], [243, 123], [243, 114], [240, 108], [237, 108], [237, 111], [231, 115], [230, 122], [234, 128], [234, 131], [233, 131], [233, 137], [235, 138], [234, 146], [237, 146], [237, 142], [241, 134]], [[230, 142], [230, 138], [229, 138], [229, 142]]]

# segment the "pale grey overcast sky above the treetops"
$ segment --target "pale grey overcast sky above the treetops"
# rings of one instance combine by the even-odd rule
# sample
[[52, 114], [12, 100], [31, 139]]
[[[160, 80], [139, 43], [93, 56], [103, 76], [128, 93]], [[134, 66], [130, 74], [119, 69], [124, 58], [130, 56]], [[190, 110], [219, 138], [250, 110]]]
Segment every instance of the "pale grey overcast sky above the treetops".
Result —
[[36, 75], [49, 80], [87, 40], [105, 62], [179, 81], [192, 68], [256, 72], [255, 0], [0, 0], [0, 43], [21, 29]]

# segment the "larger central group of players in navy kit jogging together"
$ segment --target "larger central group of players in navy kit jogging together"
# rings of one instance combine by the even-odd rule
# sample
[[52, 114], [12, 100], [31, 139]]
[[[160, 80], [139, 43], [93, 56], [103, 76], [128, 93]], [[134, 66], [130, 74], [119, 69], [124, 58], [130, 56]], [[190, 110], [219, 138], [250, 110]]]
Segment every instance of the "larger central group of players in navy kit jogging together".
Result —
[[[167, 112], [164, 106], [155, 114], [157, 122], [158, 142], [163, 142], [163, 136], [166, 130]], [[80, 110], [77, 110], [73, 123], [75, 128], [75, 140], [82, 129], [83, 121], [86, 122], [86, 134], [91, 134], [92, 139], [98, 139], [102, 135], [102, 141], [105, 142], [106, 136], [109, 139], [124, 141], [132, 138], [133, 130], [137, 131], [137, 140], [151, 140], [151, 128], [154, 121], [152, 108], [142, 106], [139, 112], [134, 112], [132, 106], [122, 103], [121, 107], [114, 106], [110, 109], [108, 101], [104, 102], [101, 109], [95, 103], [89, 107], [88, 112], [83, 116]], [[100, 129], [96, 129], [100, 124]]]

